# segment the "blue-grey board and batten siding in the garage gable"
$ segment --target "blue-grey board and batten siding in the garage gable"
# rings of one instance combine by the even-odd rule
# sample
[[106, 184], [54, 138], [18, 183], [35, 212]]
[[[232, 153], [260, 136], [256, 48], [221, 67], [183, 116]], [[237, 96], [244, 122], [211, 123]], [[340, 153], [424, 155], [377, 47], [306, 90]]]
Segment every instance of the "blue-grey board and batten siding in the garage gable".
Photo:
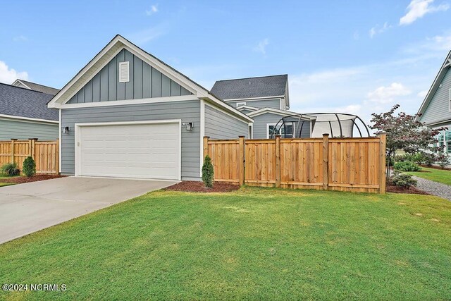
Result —
[[[119, 82], [119, 63], [128, 61], [130, 81]], [[122, 49], [109, 63], [82, 87], [68, 104], [87, 102], [111, 102], [124, 99], [143, 99], [190, 95], [166, 75], [142, 61], [126, 49]]]

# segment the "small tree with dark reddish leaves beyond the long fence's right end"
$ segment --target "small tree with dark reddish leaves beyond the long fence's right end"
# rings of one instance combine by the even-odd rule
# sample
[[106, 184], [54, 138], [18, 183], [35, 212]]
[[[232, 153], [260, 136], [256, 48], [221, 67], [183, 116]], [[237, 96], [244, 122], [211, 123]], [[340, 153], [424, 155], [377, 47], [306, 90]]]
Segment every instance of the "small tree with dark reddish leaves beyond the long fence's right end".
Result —
[[[408, 154], [424, 152], [427, 154], [440, 154], [440, 147], [437, 147], [436, 136], [447, 128], [427, 128], [424, 123], [416, 121], [420, 114], [409, 115], [404, 112], [395, 113], [400, 108], [399, 104], [385, 113], [372, 113], [369, 128], [376, 130], [376, 134], [387, 133], [387, 156], [392, 158], [396, 149], [404, 149]], [[390, 161], [388, 169], [390, 170]], [[436, 161], [436, 160], [434, 160]], [[389, 172], [389, 171], [388, 171]]]

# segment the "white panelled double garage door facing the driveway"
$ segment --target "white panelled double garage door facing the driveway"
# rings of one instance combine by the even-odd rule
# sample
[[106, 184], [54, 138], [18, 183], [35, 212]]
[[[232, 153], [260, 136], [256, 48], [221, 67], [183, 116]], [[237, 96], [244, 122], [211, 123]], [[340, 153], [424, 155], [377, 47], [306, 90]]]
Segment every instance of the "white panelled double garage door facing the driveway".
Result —
[[180, 179], [179, 123], [89, 125], [77, 130], [78, 176]]

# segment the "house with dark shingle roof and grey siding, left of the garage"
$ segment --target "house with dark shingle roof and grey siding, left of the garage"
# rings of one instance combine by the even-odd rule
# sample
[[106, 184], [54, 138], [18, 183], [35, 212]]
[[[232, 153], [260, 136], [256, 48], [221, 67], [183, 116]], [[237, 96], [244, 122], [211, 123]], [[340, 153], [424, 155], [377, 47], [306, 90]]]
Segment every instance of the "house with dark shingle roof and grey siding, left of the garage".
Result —
[[56, 140], [58, 110], [47, 108], [52, 97], [29, 87], [0, 83], [0, 140]]

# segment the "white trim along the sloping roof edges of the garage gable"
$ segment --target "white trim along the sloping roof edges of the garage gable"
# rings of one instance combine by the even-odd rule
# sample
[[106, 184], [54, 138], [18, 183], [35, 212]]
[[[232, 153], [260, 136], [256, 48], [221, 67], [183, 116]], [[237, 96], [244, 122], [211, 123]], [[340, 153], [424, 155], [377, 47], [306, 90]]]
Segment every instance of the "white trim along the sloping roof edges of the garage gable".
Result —
[[[185, 75], [179, 73], [177, 70], [171, 68], [170, 66], [166, 65], [166, 63], [163, 63], [159, 59], [156, 59], [156, 57], [152, 56], [151, 54], [148, 54], [146, 51], [140, 49], [140, 47], [137, 47], [132, 42], [128, 41], [128, 39], [125, 39], [121, 35], [116, 35], [109, 44], [102, 49], [97, 56], [94, 56], [94, 59], [89, 61], [87, 65], [80, 70], [75, 77], [68, 82], [67, 85], [61, 89], [58, 94], [54, 96], [53, 99], [49, 102], [47, 105], [49, 108], [56, 108], [59, 109], [61, 107], [61, 104], [65, 104], [69, 101], [70, 97], [63, 97], [63, 94], [65, 94], [70, 87], [72, 87], [75, 82], [80, 81], [80, 88], [83, 87], [92, 77], [94, 77], [97, 72], [94, 72], [92, 76], [87, 78], [82, 78], [85, 73], [92, 68], [95, 63], [97, 63], [111, 48], [113, 48], [116, 44], [121, 43], [119, 49], [125, 48], [128, 51], [132, 52], [132, 54], [135, 54], [140, 59], [145, 61], [146, 63], [149, 63], [152, 67], [156, 68], [160, 72], [169, 75], [168, 77], [172, 80], [175, 80], [179, 85], [183, 85], [188, 88], [191, 92], [194, 92], [194, 97], [197, 97], [199, 99], [209, 99], [211, 102], [214, 102], [217, 106], [221, 106], [223, 109], [226, 109], [226, 111], [229, 111], [230, 113], [233, 113], [235, 116], [239, 116], [240, 118], [243, 118], [247, 121], [252, 122], [252, 118], [249, 118], [245, 113], [242, 113], [238, 111], [237, 109], [229, 106], [225, 102], [223, 102], [221, 99], [218, 99], [217, 97], [214, 97], [213, 94], [210, 94], [208, 90], [206, 90], [204, 87], [197, 85], [196, 82], [193, 82], [189, 78], [187, 78]], [[107, 63], [107, 62], [106, 62]]]

